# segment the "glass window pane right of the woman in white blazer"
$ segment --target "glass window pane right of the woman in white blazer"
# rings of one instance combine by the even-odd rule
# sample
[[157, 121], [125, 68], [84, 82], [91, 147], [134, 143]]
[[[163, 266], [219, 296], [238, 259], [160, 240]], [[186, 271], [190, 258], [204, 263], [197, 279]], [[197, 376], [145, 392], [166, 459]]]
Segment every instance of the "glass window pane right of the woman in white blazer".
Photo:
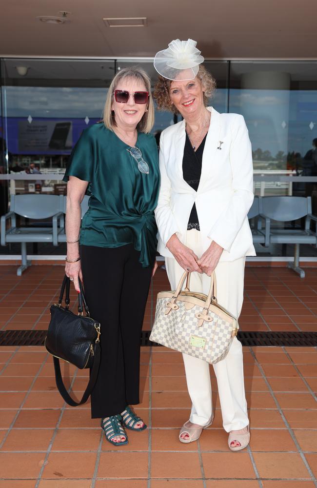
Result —
[[[317, 62], [231, 62], [229, 112], [245, 118], [255, 174], [317, 175], [316, 86]], [[287, 183], [265, 186], [265, 194], [292, 191]], [[297, 183], [293, 189], [307, 194], [312, 185]]]

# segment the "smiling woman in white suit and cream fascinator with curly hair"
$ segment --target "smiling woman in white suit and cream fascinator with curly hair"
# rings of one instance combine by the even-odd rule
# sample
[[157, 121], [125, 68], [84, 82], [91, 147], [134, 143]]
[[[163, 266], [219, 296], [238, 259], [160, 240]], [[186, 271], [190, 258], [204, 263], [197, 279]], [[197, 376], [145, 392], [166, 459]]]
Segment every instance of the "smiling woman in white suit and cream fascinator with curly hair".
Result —
[[[217, 278], [218, 303], [238, 318], [243, 301], [245, 256], [254, 256], [247, 213], [253, 202], [251, 144], [244, 119], [208, 107], [216, 82], [201, 66], [196, 42], [172, 41], [154, 65], [160, 74], [158, 107], [180, 113], [181, 122], [160, 137], [161, 187], [155, 210], [158, 251], [165, 256], [171, 289], [184, 270], [191, 288], [208, 294]], [[199, 438], [214, 419], [209, 364], [183, 354], [190, 419], [179, 440]], [[231, 450], [250, 441], [242, 346], [235, 337], [226, 358], [214, 365], [223, 427]]]

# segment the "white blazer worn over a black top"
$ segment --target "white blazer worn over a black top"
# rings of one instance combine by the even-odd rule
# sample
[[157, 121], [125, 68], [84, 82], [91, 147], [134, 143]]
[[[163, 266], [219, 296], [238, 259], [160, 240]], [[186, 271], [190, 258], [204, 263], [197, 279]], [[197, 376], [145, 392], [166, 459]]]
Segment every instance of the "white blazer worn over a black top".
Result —
[[208, 110], [211, 120], [197, 192], [183, 179], [185, 121], [171, 125], [161, 133], [161, 186], [155, 210], [158, 252], [173, 257], [166, 243], [175, 233], [185, 244], [188, 219], [195, 202], [203, 250], [215, 241], [224, 249], [220, 261], [255, 256], [247, 219], [253, 202], [248, 129], [242, 115], [219, 114], [213, 107]]

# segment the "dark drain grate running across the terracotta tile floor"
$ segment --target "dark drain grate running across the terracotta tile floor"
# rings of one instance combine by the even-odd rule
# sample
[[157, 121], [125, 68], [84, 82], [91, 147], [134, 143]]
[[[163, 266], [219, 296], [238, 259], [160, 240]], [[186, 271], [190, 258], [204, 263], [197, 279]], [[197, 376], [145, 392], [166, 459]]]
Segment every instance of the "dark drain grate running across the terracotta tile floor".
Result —
[[[150, 341], [150, 330], [141, 333], [141, 346], [159, 346]], [[43, 346], [46, 330], [2, 330], [0, 346]], [[238, 333], [242, 346], [316, 347], [317, 332], [246, 332]]]

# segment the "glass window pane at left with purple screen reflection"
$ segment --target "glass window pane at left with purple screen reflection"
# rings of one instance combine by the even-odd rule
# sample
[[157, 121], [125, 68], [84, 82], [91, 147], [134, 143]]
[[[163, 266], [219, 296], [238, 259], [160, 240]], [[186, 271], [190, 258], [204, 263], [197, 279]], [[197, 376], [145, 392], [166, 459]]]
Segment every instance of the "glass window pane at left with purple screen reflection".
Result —
[[114, 61], [5, 60], [9, 171], [27, 170], [30, 164], [64, 168], [82, 130], [101, 118], [114, 67]]

